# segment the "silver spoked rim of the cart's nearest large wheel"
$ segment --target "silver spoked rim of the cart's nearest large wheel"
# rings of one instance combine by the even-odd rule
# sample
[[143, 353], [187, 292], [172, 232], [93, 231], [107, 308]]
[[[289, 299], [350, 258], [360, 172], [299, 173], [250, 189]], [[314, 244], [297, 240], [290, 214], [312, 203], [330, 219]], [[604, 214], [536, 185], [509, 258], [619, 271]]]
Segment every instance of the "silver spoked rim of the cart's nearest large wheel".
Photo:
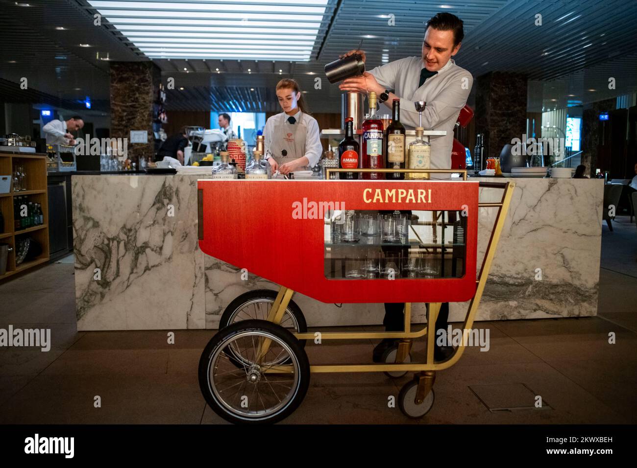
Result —
[[[271, 340], [261, 363], [255, 362], [259, 338]], [[251, 357], [252, 362], [237, 368], [226, 352], [235, 347], [242, 349], [242, 355]], [[285, 367], [292, 372], [266, 372], [283, 360], [288, 360]], [[270, 418], [294, 400], [300, 385], [299, 368], [297, 356], [285, 341], [268, 332], [247, 330], [228, 337], [215, 348], [208, 362], [208, 388], [215, 401], [238, 418]]]

